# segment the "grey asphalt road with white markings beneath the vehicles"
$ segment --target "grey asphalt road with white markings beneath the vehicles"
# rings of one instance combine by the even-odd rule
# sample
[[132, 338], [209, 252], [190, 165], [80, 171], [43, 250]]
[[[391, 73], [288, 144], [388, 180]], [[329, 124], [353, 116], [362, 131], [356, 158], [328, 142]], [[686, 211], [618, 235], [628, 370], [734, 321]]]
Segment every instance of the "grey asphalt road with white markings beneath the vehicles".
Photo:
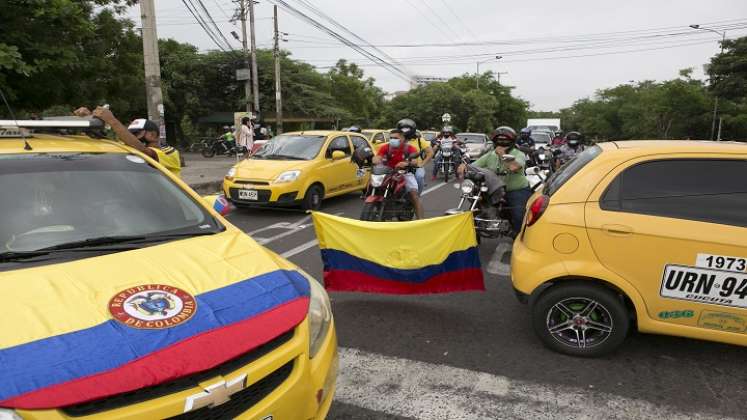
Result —
[[[429, 183], [427, 216], [453, 207]], [[357, 194], [323, 211], [357, 218]], [[237, 209], [231, 222], [321, 278], [310, 219]], [[747, 418], [747, 349], [633, 333], [599, 359], [542, 347], [505, 275], [507, 244], [484, 241], [487, 291], [433, 296], [331, 293], [341, 354], [330, 419]], [[494, 274], [498, 273], [498, 274]]]

